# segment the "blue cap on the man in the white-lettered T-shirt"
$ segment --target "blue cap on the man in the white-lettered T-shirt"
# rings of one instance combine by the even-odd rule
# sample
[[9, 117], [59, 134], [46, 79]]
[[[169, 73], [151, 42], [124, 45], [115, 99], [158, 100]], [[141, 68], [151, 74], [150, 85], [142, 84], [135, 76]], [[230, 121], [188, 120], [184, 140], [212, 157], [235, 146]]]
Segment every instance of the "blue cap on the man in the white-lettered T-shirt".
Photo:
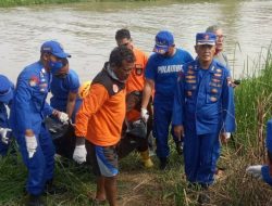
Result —
[[174, 44], [174, 36], [168, 30], [161, 30], [156, 35], [156, 44], [153, 51], [159, 54], [164, 54], [169, 48]]

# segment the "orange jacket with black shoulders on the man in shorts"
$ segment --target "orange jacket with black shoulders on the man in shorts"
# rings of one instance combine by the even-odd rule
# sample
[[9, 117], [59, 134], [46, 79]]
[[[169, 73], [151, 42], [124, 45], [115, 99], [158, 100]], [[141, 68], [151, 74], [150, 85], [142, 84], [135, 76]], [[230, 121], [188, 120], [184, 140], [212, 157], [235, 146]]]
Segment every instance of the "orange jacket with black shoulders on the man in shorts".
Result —
[[75, 133], [100, 146], [115, 145], [125, 118], [125, 83], [107, 66], [95, 77], [76, 115]]

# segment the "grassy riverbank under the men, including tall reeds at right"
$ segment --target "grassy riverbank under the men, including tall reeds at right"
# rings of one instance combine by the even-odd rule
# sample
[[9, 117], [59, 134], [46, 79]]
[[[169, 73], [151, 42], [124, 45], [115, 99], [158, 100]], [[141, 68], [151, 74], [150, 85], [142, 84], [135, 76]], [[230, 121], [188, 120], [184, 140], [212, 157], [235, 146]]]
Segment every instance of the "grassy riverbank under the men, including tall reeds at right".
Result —
[[[262, 164], [265, 121], [272, 117], [272, 56], [269, 53], [262, 70], [244, 79], [235, 89], [237, 132], [223, 146], [219, 165], [225, 167], [224, 176], [211, 186], [212, 205], [217, 206], [264, 206], [272, 205], [271, 186], [245, 173], [247, 166]], [[171, 144], [172, 145], [172, 144]], [[119, 176], [119, 205], [124, 206], [194, 206], [197, 190], [187, 188], [183, 158], [174, 146], [166, 171], [156, 167], [146, 170], [139, 156], [131, 154], [121, 160]], [[0, 205], [23, 205], [26, 169], [18, 156], [9, 155], [0, 159]], [[52, 205], [91, 205], [96, 191], [95, 179], [86, 167], [57, 160], [55, 183], [69, 192], [62, 195], [44, 196]]]

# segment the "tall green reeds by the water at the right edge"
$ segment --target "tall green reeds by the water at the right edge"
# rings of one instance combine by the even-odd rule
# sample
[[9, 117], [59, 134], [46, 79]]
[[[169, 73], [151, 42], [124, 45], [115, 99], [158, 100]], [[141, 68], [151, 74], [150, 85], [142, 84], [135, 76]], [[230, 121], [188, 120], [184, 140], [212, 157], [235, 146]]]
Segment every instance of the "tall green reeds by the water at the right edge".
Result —
[[[237, 131], [234, 140], [236, 150], [240, 152], [247, 152], [248, 147], [257, 147], [259, 154], [264, 152], [265, 123], [268, 118], [272, 118], [271, 49], [269, 47], [267, 53], [259, 55], [254, 68], [249, 69], [248, 63], [246, 64], [246, 78], [242, 79], [240, 86], [235, 89]], [[248, 70], [251, 70], [250, 75], [247, 75]]]

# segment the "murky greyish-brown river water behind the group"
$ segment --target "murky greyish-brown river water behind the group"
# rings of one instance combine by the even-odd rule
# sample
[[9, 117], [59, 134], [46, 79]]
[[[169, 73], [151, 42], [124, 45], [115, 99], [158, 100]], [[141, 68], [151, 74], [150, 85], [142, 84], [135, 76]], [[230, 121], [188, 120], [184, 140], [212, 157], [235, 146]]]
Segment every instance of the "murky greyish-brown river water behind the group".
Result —
[[15, 81], [24, 66], [39, 59], [45, 40], [59, 40], [72, 54], [71, 68], [81, 81], [101, 69], [115, 46], [114, 35], [127, 27], [139, 49], [150, 53], [160, 29], [194, 56], [195, 35], [220, 24], [233, 75], [258, 67], [272, 39], [272, 1], [88, 2], [0, 9], [0, 73]]

